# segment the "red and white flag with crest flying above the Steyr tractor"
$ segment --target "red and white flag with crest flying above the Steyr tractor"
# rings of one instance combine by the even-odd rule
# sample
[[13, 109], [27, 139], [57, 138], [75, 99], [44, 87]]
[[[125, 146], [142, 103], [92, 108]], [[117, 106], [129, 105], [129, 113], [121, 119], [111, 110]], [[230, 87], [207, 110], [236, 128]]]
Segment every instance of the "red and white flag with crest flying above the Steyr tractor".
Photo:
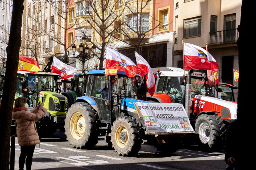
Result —
[[183, 44], [185, 69], [218, 71], [219, 65], [208, 51], [191, 43]]

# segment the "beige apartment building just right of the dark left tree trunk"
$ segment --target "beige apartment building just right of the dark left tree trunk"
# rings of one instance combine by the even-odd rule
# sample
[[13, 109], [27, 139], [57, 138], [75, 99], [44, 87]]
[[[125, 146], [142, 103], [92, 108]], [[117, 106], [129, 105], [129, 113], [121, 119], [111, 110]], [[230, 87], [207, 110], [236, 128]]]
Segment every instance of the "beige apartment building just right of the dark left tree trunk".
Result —
[[[61, 2], [61, 1], [60, 1]], [[64, 4], [58, 1], [25, 0], [22, 20], [21, 55], [38, 61], [42, 71], [48, 59], [63, 49], [65, 23], [58, 14]]]

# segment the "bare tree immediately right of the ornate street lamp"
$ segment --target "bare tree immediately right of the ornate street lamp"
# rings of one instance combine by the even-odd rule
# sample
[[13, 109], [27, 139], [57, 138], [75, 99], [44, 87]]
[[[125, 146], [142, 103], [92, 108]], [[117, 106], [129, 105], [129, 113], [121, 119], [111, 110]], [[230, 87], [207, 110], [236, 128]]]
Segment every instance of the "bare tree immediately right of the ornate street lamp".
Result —
[[[76, 17], [78, 17], [76, 30], [85, 36], [86, 41], [95, 45], [99, 51], [96, 55], [99, 59], [99, 69], [103, 69], [105, 47], [111, 45], [111, 29], [113, 23], [119, 18], [123, 11], [116, 11], [118, 1], [116, 0], [84, 0], [77, 2]], [[93, 38], [91, 37], [93, 36]], [[79, 35], [75, 37], [76, 43], [80, 43]]]

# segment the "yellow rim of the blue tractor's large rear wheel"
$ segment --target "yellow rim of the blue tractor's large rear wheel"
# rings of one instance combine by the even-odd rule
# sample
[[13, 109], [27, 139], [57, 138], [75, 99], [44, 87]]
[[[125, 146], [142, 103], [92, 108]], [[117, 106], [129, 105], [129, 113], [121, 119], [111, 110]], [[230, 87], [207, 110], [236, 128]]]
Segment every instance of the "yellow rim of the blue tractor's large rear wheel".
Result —
[[72, 115], [69, 128], [73, 138], [79, 140], [83, 137], [85, 134], [86, 124], [85, 118], [80, 112], [74, 113]]

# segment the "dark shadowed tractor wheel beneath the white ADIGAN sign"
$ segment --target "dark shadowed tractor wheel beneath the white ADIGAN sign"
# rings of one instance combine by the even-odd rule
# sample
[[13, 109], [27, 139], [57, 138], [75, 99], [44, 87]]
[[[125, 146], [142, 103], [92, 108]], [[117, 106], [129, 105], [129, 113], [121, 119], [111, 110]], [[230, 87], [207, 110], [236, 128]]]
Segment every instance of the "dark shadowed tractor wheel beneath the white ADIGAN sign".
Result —
[[164, 156], [170, 156], [179, 149], [181, 144], [180, 137], [157, 136], [155, 138], [154, 146]]

